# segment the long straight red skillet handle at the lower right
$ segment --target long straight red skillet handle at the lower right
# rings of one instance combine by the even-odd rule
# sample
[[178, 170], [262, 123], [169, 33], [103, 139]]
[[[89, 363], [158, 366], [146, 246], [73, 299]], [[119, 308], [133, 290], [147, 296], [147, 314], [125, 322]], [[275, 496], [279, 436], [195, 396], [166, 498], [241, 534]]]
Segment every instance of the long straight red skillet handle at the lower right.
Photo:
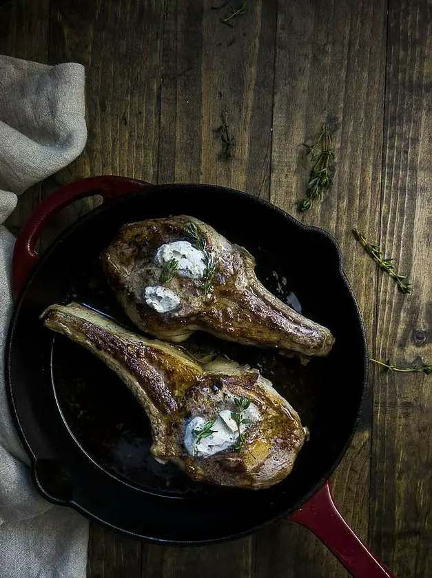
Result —
[[309, 528], [354, 577], [394, 578], [344, 521], [333, 502], [329, 482], [289, 515], [289, 519]]

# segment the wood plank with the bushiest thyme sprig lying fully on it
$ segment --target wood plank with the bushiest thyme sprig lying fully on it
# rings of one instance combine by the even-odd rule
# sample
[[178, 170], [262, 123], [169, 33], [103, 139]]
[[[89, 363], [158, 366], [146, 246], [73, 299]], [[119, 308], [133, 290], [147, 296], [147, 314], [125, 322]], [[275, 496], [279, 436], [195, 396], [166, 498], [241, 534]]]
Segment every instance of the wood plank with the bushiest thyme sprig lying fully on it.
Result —
[[[382, 155], [386, 2], [279, 3], [276, 41], [271, 201], [338, 239], [373, 346], [376, 277], [358, 252], [351, 228], [378, 232]], [[300, 146], [326, 120], [337, 119], [336, 177], [324, 201], [299, 214], [309, 157]], [[348, 376], [347, 376], [348, 377]], [[333, 476], [342, 515], [367, 541], [371, 388], [358, 433]], [[256, 538], [257, 577], [345, 576], [304, 528], [281, 524]]]

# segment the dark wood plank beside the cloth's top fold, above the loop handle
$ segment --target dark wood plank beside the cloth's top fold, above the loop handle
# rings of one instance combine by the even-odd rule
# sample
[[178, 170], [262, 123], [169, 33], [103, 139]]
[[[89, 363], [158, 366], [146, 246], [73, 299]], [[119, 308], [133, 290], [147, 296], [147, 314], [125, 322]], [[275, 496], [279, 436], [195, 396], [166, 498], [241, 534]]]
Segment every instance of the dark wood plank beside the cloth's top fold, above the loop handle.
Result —
[[[140, 0], [53, 4], [50, 63], [85, 66], [88, 142], [76, 161], [45, 181], [45, 195], [90, 175], [156, 182], [163, 9], [162, 2]], [[43, 243], [98, 202], [88, 199], [65, 209]]]

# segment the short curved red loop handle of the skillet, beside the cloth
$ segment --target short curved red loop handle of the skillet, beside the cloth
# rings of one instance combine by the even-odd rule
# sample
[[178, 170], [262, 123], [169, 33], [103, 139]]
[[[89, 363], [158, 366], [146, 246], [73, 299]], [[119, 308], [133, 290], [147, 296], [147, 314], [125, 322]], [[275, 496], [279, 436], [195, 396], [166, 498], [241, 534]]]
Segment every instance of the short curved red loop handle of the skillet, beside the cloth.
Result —
[[127, 192], [147, 188], [148, 186], [150, 186], [150, 183], [145, 183], [144, 181], [104, 175], [69, 183], [45, 197], [34, 210], [27, 223], [25, 223], [15, 243], [12, 260], [14, 295], [18, 295], [25, 279], [27, 279], [30, 271], [39, 260], [39, 255], [34, 250], [34, 247], [52, 215], [77, 199], [101, 195], [106, 203], [116, 197], [126, 195]]

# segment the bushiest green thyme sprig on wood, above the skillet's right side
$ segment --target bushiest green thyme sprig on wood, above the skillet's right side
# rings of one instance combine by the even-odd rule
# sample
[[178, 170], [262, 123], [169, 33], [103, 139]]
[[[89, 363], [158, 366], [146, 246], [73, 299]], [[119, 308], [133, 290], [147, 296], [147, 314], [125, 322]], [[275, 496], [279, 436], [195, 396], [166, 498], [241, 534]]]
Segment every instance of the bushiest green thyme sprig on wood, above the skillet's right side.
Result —
[[332, 132], [334, 130], [331, 131], [329, 126], [325, 124], [315, 144], [303, 143], [303, 146], [307, 148], [306, 155], [311, 156], [313, 166], [309, 175], [309, 183], [307, 183], [307, 198], [300, 201], [298, 205], [298, 209], [302, 212], [311, 209], [313, 201], [317, 199], [322, 201], [322, 195], [333, 182], [335, 156], [331, 141]]

